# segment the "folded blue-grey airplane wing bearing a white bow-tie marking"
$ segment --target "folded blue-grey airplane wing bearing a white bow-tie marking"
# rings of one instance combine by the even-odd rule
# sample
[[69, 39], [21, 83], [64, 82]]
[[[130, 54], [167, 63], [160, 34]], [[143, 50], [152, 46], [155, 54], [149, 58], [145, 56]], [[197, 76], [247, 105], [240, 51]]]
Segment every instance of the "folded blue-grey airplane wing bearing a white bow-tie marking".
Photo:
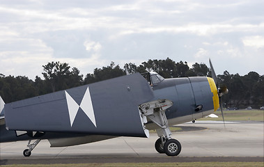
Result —
[[6, 127], [146, 137], [138, 106], [153, 98], [146, 79], [138, 73], [130, 74], [6, 104]]

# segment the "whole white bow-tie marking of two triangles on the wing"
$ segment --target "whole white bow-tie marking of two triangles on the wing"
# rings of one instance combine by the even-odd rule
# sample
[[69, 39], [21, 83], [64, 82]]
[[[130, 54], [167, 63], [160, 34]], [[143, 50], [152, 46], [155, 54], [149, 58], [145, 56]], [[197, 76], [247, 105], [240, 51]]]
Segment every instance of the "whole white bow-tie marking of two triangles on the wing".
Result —
[[70, 126], [72, 127], [77, 112], [79, 108], [81, 108], [82, 111], [84, 111], [84, 113], [86, 114], [86, 116], [88, 116], [88, 118], [93, 122], [93, 125], [95, 125], [96, 127], [95, 113], [93, 111], [93, 104], [91, 100], [89, 87], [87, 87], [86, 92], [84, 93], [84, 97], [81, 100], [81, 105], [78, 105], [77, 102], [75, 102], [75, 100], [66, 92], [66, 90], [65, 90], [65, 95], [66, 95], [68, 111], [70, 115]]

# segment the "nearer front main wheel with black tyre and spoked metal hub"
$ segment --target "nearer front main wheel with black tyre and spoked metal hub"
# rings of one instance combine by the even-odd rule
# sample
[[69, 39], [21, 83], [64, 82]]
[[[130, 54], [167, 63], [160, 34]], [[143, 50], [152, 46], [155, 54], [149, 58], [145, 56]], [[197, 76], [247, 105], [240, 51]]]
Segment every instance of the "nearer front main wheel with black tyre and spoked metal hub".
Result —
[[177, 156], [180, 154], [180, 150], [182, 150], [182, 146], [176, 139], [169, 139], [164, 143], [164, 152], [168, 156]]

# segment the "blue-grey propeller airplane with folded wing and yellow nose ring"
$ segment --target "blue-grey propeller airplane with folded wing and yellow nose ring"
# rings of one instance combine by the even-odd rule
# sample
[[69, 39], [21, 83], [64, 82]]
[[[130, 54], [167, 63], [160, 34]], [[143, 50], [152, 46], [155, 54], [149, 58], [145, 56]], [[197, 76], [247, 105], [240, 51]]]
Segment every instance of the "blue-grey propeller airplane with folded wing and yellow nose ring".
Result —
[[228, 89], [219, 86], [209, 62], [212, 78], [164, 79], [146, 72], [8, 104], [0, 97], [0, 143], [29, 141], [23, 152], [29, 157], [43, 139], [50, 147], [65, 147], [118, 136], [149, 137], [156, 129], [155, 150], [177, 156], [182, 147], [169, 126], [210, 116], [219, 107], [222, 111], [221, 97]]

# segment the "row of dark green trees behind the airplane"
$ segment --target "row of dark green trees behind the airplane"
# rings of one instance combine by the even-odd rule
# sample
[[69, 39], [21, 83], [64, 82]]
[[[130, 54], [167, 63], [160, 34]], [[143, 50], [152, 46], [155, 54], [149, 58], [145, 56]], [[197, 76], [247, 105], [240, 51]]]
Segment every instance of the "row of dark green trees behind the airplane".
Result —
[[[68, 63], [51, 62], [42, 67], [44, 79], [36, 76], [34, 81], [26, 76], [14, 77], [0, 74], [0, 95], [3, 100], [6, 103], [15, 102], [135, 72], [154, 71], [164, 78], [211, 77], [210, 68], [205, 63], [194, 63], [192, 67], [189, 67], [186, 61], [176, 63], [171, 58], [149, 59], [140, 65], [125, 63], [123, 68], [111, 62], [107, 67], [95, 68], [93, 73], [88, 73], [85, 77], [80, 74], [77, 67], [71, 68]], [[229, 90], [229, 93], [223, 97], [224, 106], [259, 108], [264, 105], [264, 75], [249, 72], [240, 76], [224, 71], [224, 74], [217, 75], [217, 78], [220, 83], [226, 84]]]

